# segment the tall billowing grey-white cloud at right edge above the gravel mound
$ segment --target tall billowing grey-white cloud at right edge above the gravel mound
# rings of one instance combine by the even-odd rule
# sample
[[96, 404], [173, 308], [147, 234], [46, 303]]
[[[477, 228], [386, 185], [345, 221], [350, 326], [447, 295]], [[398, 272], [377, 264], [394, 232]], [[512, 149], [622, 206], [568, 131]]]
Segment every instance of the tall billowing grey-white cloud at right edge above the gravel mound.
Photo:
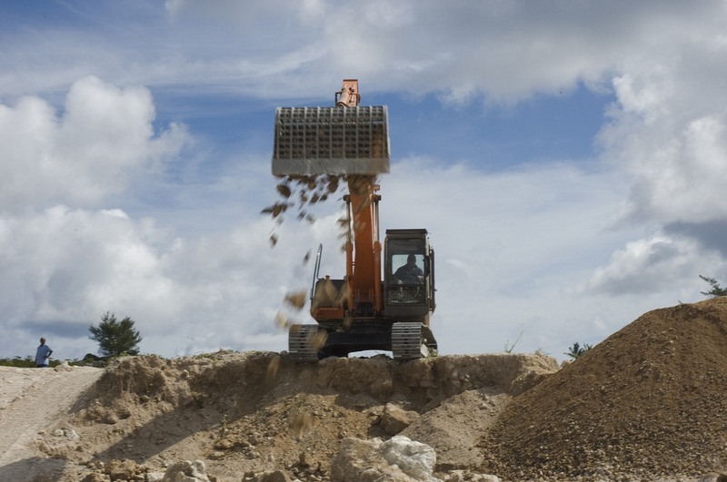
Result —
[[614, 252], [589, 289], [653, 293], [724, 272], [725, 251], [715, 240], [727, 223], [727, 68], [718, 61], [727, 45], [717, 20], [723, 5], [711, 11], [682, 21], [658, 15], [663, 42], [624, 57], [613, 78], [617, 102], [599, 135], [603, 160], [632, 176], [621, 225], [655, 234]]

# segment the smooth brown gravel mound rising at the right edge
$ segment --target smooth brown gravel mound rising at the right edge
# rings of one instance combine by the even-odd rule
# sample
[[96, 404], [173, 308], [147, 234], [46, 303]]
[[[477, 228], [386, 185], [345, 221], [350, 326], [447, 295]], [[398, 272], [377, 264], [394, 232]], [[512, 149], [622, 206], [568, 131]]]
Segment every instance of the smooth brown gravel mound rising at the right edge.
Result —
[[727, 469], [727, 298], [644, 314], [515, 398], [489, 473], [674, 480]]

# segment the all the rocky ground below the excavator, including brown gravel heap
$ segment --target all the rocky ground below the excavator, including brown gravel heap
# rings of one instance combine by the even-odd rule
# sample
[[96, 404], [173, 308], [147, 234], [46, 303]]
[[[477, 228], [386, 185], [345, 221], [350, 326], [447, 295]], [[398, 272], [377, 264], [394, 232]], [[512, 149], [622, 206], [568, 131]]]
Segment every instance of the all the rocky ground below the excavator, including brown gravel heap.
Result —
[[294, 364], [220, 352], [104, 370], [0, 368], [0, 382], [0, 480], [727, 473], [722, 298], [646, 313], [563, 368], [541, 354]]

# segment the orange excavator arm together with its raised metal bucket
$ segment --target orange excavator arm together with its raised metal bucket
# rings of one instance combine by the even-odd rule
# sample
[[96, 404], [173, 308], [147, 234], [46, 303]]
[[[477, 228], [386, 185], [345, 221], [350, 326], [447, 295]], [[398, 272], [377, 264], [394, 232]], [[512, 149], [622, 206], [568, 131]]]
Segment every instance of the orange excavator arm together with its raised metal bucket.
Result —
[[382, 309], [378, 174], [389, 172], [385, 106], [360, 106], [358, 81], [346, 79], [334, 107], [279, 107], [273, 173], [341, 175], [348, 183], [347, 315]]

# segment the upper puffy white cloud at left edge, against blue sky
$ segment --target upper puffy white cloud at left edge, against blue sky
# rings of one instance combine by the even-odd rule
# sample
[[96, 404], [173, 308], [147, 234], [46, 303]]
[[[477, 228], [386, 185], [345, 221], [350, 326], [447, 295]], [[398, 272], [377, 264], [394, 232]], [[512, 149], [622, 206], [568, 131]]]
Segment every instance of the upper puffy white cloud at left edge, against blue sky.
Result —
[[96, 77], [77, 81], [65, 111], [24, 97], [0, 104], [0, 203], [3, 211], [65, 203], [96, 206], [154, 172], [186, 142], [184, 128], [156, 134], [154, 104], [143, 87], [121, 89]]

